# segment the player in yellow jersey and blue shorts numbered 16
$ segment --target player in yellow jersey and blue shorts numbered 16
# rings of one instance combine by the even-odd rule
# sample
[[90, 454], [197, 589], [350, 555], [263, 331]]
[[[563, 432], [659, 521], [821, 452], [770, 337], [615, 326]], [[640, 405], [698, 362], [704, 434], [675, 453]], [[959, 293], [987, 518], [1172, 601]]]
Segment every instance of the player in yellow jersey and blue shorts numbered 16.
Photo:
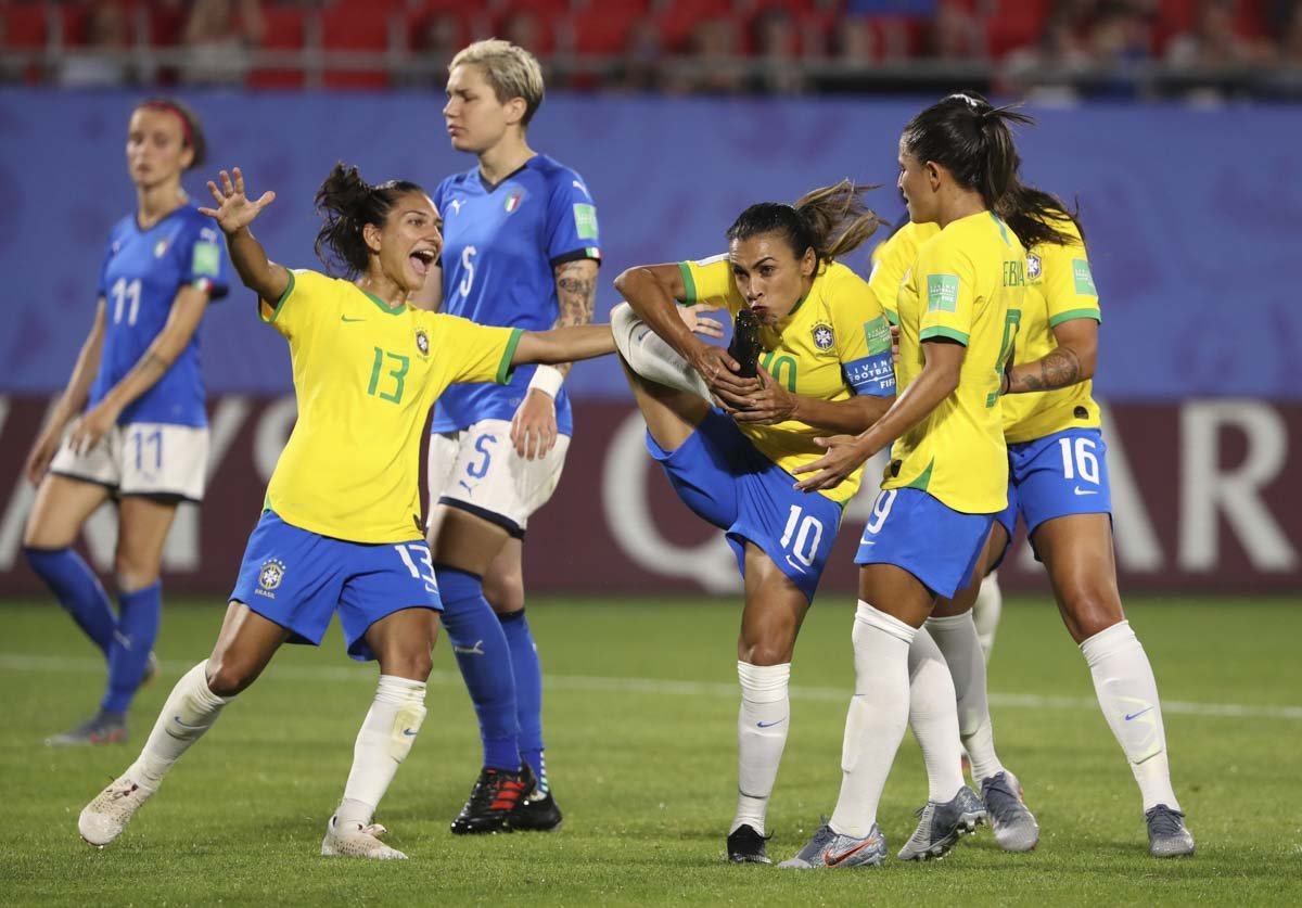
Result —
[[[980, 576], [1003, 561], [1021, 514], [1068, 632], [1090, 666], [1099, 706], [1139, 784], [1148, 851], [1155, 857], [1189, 855], [1194, 838], [1170, 784], [1157, 684], [1117, 591], [1107, 445], [1091, 382], [1101, 315], [1079, 222], [1060, 199], [1016, 177], [1000, 209], [1030, 250], [1017, 351], [1003, 384], [1003, 393], [1013, 395], [1001, 403], [1009, 501], [991, 528], [976, 579], [952, 601], [937, 602], [927, 630], [953, 674], [973, 778], [999, 836], [1005, 831], [1000, 805], [1010, 804], [1019, 784], [995, 752], [971, 611], [984, 585]], [[906, 256], [909, 246], [934, 230], [914, 226], [888, 242], [896, 248], [883, 255], [887, 272], [892, 269], [885, 263]], [[883, 281], [889, 280], [884, 272]]]

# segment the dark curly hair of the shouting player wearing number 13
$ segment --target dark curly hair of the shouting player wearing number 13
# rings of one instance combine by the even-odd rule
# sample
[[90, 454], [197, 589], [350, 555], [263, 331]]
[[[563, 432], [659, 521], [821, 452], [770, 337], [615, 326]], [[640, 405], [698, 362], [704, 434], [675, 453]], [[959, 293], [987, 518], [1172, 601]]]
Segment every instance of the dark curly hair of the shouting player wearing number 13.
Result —
[[355, 167], [336, 164], [316, 190], [316, 213], [324, 224], [312, 248], [327, 273], [335, 274], [339, 268], [344, 277], [353, 278], [365, 272], [371, 250], [362, 230], [367, 224], [383, 228], [393, 204], [409, 193], [424, 190], [406, 180], [371, 186]]

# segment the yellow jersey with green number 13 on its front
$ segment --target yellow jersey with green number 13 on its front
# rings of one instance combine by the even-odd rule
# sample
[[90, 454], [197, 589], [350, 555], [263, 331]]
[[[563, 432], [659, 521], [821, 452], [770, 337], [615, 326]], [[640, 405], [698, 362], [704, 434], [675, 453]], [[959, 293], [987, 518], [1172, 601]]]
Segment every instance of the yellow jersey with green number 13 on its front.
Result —
[[267, 506], [350, 542], [406, 542], [421, 526], [421, 436], [454, 381], [505, 382], [519, 329], [389, 307], [348, 281], [290, 272], [263, 321], [289, 341], [298, 421]]

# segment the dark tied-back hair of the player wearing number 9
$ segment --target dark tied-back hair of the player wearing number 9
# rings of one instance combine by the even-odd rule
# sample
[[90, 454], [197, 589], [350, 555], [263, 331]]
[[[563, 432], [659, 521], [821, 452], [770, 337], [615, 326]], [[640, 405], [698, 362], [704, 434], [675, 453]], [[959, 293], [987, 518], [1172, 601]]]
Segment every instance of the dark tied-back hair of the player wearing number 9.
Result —
[[1013, 107], [991, 107], [974, 91], [949, 95], [909, 121], [904, 150], [922, 163], [935, 161], [963, 189], [980, 193], [993, 209], [1013, 185], [1017, 144], [1009, 124], [1035, 122]]

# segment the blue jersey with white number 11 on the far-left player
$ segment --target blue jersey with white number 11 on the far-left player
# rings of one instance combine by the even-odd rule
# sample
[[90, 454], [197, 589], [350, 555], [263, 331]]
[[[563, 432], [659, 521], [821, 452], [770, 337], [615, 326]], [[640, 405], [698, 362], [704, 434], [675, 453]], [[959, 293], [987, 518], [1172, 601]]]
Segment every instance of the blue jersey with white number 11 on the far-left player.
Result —
[[[227, 247], [216, 225], [193, 206], [181, 206], [142, 230], [128, 215], [108, 235], [99, 272], [99, 295], [105, 300], [104, 347], [90, 406], [99, 403], [130, 372], [163, 330], [172, 302], [184, 286], [201, 286], [211, 299], [227, 294]], [[152, 388], [122, 410], [120, 424], [171, 423], [207, 425], [199, 332]]]

